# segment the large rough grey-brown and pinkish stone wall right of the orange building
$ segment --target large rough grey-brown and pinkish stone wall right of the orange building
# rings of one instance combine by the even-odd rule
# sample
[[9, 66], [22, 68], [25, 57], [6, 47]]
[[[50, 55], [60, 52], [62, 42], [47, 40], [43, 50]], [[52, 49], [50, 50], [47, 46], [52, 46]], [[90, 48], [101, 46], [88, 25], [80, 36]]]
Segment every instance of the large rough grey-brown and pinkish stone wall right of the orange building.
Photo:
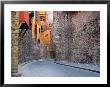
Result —
[[57, 60], [100, 63], [100, 12], [53, 12]]

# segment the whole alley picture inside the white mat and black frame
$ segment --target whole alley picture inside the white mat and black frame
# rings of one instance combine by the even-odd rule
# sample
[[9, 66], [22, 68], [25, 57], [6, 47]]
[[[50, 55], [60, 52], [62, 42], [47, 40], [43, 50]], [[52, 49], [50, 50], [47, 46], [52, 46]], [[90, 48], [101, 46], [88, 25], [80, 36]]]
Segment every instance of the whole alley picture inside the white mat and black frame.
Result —
[[12, 11], [11, 31], [12, 76], [100, 76], [99, 11]]

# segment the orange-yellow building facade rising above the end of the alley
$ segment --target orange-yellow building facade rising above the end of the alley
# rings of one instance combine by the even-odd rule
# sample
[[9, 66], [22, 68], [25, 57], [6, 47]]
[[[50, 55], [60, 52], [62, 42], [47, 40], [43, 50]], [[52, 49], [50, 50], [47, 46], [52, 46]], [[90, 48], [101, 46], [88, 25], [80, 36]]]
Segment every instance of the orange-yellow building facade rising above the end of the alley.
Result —
[[38, 11], [36, 16], [39, 17], [39, 19], [32, 18], [32, 38], [37, 39], [39, 43], [50, 44], [52, 39], [51, 29], [46, 20], [46, 12]]

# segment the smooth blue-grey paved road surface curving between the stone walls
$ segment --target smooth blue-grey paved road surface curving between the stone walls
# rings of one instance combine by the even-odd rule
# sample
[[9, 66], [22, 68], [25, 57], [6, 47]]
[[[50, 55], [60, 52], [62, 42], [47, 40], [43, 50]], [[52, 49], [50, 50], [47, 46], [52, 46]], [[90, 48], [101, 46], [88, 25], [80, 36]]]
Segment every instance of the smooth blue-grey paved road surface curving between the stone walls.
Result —
[[34, 61], [19, 67], [24, 77], [99, 77], [100, 73], [59, 65], [53, 61]]

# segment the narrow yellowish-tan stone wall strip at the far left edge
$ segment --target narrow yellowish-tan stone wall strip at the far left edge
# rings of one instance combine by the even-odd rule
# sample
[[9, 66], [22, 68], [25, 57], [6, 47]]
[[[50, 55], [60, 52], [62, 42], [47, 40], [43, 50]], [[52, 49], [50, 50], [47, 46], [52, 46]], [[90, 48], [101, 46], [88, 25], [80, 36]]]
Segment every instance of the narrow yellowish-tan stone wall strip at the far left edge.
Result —
[[18, 57], [19, 57], [19, 13], [11, 12], [11, 73], [12, 76], [18, 72]]

